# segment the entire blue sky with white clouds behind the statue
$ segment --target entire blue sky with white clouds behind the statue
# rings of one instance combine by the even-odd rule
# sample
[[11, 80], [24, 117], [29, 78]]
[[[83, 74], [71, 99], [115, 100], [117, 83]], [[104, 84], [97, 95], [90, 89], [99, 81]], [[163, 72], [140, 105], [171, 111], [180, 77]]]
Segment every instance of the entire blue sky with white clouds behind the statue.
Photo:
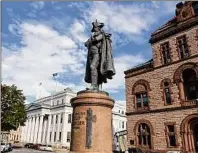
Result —
[[3, 1], [3, 83], [16, 84], [27, 103], [66, 87], [76, 92], [88, 87], [84, 42], [97, 19], [112, 33], [116, 68], [103, 89], [124, 102], [124, 71], [152, 58], [150, 35], [175, 15], [176, 3]]

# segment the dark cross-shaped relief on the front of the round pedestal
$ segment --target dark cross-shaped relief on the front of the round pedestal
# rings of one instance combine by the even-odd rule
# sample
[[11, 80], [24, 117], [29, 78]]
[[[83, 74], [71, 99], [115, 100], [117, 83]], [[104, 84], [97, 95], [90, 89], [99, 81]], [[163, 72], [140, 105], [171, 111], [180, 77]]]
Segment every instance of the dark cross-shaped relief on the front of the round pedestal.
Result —
[[91, 108], [87, 110], [86, 121], [86, 147], [90, 148], [92, 143], [92, 122], [96, 122], [96, 115], [93, 115]]

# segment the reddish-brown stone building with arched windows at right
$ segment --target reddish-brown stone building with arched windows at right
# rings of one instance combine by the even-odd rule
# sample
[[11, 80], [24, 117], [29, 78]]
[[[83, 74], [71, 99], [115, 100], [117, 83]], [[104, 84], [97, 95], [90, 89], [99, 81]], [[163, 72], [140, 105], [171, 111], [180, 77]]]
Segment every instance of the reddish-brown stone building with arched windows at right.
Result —
[[152, 33], [153, 58], [125, 71], [129, 147], [198, 152], [198, 2]]

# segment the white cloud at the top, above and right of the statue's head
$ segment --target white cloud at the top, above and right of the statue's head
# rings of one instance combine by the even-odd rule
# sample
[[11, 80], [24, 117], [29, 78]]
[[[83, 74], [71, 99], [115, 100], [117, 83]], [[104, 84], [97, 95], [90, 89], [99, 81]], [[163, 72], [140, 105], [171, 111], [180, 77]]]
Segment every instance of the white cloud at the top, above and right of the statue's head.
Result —
[[139, 5], [106, 2], [94, 2], [91, 8], [85, 11], [85, 18], [89, 22], [98, 19], [100, 22], [104, 22], [112, 32], [127, 36], [141, 34], [143, 30], [148, 30], [156, 22], [152, 10]]

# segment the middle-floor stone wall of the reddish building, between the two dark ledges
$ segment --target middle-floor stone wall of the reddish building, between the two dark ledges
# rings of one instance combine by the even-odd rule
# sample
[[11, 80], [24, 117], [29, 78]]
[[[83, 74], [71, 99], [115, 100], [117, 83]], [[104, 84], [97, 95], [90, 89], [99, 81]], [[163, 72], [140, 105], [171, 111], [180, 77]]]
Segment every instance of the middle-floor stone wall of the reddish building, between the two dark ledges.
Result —
[[[148, 96], [149, 96], [149, 106], [151, 110], [160, 109], [164, 107], [168, 108], [168, 107], [180, 106], [179, 89], [178, 89], [178, 85], [176, 83], [173, 83], [173, 75], [180, 65], [189, 62], [198, 63], [198, 57], [181, 61], [179, 63], [171, 64], [169, 66], [165, 66], [159, 69], [155, 69], [147, 73], [142, 73], [137, 76], [126, 78], [125, 86], [126, 86], [127, 112], [135, 111], [134, 109], [135, 95], [132, 95], [132, 87], [134, 83], [139, 79], [144, 79], [149, 82], [151, 90], [148, 92]], [[171, 97], [173, 99], [173, 104], [167, 106], [164, 105], [163, 89], [161, 89], [160, 87], [162, 80], [166, 78], [171, 80], [172, 83]]]

